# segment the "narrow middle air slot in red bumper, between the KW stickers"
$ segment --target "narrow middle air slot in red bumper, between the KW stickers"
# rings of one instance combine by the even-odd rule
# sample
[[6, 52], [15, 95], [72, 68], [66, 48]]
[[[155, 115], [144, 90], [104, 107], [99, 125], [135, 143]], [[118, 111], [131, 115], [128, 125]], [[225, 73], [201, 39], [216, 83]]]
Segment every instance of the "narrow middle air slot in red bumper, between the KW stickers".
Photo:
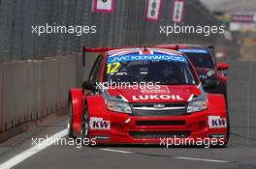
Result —
[[136, 121], [137, 126], [185, 126], [185, 121]]

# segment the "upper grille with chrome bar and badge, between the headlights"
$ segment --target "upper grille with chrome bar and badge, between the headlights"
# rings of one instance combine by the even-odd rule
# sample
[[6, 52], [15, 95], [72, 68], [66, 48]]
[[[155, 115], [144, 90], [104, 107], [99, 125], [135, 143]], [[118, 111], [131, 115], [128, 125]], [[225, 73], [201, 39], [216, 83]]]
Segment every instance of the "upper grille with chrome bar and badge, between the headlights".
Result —
[[[159, 105], [161, 107], [159, 107]], [[183, 116], [187, 115], [186, 102], [132, 103], [133, 116]]]

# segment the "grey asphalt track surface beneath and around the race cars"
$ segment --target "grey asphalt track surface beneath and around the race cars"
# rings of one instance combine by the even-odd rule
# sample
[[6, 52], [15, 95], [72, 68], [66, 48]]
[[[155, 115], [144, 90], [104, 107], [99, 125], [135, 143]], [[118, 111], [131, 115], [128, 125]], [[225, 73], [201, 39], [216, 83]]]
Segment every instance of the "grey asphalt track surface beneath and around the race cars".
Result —
[[[14, 168], [256, 168], [256, 63], [228, 61], [231, 139], [228, 148], [159, 148], [148, 146], [48, 146], [18, 162], [14, 156], [31, 147], [31, 138], [55, 134], [66, 127], [58, 117], [0, 144], [0, 168], [8, 159]], [[32, 151], [33, 152], [33, 151]], [[27, 155], [27, 154], [26, 154]], [[20, 158], [20, 156], [19, 156]]]

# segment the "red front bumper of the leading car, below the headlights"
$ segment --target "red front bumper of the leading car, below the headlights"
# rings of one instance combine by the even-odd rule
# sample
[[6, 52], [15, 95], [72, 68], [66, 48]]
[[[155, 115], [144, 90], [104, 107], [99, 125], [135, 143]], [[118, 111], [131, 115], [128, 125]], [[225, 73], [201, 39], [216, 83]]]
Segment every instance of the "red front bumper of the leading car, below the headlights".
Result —
[[227, 127], [210, 128], [208, 116], [226, 118], [225, 114], [209, 114], [204, 110], [184, 116], [140, 117], [108, 111], [102, 117], [109, 129], [90, 129], [96, 144], [161, 144], [167, 138], [206, 139], [221, 136], [226, 140]]

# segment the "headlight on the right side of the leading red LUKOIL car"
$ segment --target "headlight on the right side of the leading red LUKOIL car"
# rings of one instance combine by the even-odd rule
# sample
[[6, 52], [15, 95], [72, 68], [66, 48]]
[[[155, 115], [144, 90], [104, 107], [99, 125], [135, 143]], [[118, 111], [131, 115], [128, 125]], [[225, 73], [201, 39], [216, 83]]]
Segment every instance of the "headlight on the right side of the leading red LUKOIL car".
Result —
[[196, 99], [188, 102], [187, 113], [208, 109], [208, 99]]

